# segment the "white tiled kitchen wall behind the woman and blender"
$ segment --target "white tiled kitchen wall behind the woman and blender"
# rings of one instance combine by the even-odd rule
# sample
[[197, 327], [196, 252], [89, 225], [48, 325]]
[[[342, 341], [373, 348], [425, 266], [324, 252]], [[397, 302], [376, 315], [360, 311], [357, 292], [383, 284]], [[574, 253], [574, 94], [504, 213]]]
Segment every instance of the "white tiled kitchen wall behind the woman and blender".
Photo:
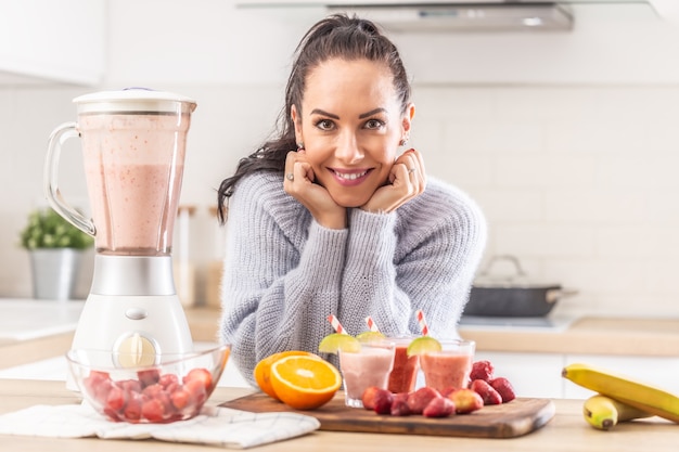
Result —
[[[75, 119], [74, 96], [100, 88], [148, 86], [197, 100], [182, 202], [200, 208], [196, 260], [216, 256], [207, 214], [215, 189], [270, 131], [294, 46], [322, 16], [218, 0], [108, 8], [101, 87], [0, 87], [0, 296], [30, 295], [16, 234], [42, 197], [47, 138]], [[482, 204], [488, 256], [514, 254], [535, 279], [580, 290], [558, 310], [679, 315], [679, 31], [655, 17], [595, 17], [591, 10], [573, 34], [395, 35], [414, 81], [411, 143], [430, 173]], [[72, 154], [64, 191], [82, 199]]]

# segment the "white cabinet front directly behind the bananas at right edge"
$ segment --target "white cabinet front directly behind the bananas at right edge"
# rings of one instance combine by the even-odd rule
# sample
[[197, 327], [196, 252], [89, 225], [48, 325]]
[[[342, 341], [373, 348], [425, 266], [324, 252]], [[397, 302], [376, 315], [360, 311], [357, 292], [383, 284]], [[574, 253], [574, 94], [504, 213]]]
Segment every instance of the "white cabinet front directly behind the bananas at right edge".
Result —
[[[599, 354], [568, 354], [565, 363], [585, 363], [648, 383], [672, 393], [679, 393], [679, 358], [612, 357]], [[593, 392], [575, 383], [565, 380], [563, 397], [587, 399]]]

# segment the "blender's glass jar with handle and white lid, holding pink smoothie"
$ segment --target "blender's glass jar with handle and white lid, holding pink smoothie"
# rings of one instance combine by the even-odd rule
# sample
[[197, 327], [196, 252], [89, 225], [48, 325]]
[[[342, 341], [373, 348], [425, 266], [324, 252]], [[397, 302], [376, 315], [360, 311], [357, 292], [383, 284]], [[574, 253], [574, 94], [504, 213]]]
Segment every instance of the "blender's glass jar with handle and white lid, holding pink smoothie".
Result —
[[[77, 124], [50, 139], [46, 181], [56, 211], [94, 235], [97, 251], [117, 256], [169, 256], [187, 133], [195, 102], [145, 89], [104, 91], [74, 99]], [[79, 135], [92, 221], [59, 195], [61, 142]]]

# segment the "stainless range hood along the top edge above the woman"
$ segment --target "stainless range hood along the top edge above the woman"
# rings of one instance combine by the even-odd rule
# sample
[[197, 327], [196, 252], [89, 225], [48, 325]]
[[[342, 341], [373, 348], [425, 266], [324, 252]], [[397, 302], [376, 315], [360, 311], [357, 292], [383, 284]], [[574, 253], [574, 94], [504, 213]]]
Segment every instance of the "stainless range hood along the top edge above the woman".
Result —
[[[356, 12], [389, 31], [571, 31], [578, 16], [679, 24], [679, 0], [235, 0], [238, 8]], [[590, 14], [592, 12], [593, 14]], [[591, 20], [590, 20], [591, 22]]]

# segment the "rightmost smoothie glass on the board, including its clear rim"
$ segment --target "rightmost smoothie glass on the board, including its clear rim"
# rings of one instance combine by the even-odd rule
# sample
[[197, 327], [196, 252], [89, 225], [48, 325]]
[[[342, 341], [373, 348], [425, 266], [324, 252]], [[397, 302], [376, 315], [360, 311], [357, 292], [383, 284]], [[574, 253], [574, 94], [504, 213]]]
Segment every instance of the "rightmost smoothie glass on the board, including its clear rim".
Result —
[[427, 351], [420, 356], [425, 385], [439, 392], [449, 388], [466, 388], [475, 343], [464, 339], [445, 339], [439, 343], [440, 351]]

